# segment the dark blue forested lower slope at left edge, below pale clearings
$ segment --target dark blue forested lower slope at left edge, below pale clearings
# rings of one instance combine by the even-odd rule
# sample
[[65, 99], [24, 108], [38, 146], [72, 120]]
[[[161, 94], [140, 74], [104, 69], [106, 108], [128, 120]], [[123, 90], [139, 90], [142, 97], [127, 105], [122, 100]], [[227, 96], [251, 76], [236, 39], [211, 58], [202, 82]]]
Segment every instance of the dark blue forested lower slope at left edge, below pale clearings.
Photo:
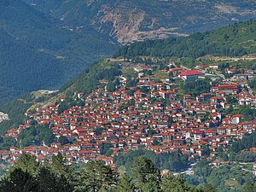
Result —
[[1, 30], [0, 40], [0, 103], [24, 92], [60, 85], [55, 79], [61, 79], [63, 70], [54, 56], [36, 51]]

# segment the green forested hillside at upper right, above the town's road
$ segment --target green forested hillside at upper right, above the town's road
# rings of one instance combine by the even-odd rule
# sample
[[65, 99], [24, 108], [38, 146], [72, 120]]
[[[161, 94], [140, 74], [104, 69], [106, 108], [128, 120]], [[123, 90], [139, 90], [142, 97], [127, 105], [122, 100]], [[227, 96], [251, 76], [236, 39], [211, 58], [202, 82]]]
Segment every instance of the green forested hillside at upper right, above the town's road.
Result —
[[148, 40], [126, 45], [115, 57], [150, 55], [159, 57], [189, 57], [204, 55], [242, 56], [256, 53], [256, 21], [234, 24], [213, 32], [197, 32], [188, 38]]

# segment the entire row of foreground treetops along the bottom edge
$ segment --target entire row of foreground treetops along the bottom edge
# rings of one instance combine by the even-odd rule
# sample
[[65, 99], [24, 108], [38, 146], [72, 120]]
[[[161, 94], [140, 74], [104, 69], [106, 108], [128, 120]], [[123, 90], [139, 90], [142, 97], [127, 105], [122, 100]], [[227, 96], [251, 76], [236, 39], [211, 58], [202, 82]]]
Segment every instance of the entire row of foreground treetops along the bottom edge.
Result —
[[38, 163], [34, 156], [22, 155], [0, 180], [0, 191], [145, 191], [145, 192], [215, 192], [212, 185], [195, 187], [179, 175], [160, 171], [151, 160], [136, 158], [129, 172], [119, 175], [102, 161], [90, 161], [75, 169], [67, 166], [61, 154], [53, 157], [52, 163]]

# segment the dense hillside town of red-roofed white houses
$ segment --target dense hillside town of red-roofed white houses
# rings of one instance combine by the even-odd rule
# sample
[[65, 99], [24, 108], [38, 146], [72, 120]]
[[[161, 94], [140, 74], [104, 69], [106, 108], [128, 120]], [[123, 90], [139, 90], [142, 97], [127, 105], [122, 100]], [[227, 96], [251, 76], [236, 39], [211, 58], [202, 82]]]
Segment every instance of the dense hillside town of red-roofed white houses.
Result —
[[[243, 81], [255, 77], [256, 72], [247, 70], [230, 79], [211, 82], [210, 91], [192, 96], [182, 94], [176, 82], [206, 79], [209, 67], [201, 65], [191, 70], [170, 65], [172, 67], [161, 73], [168, 77], [171, 73], [174, 80], [156, 81], [145, 75], [153, 67], [131, 64], [129, 67], [137, 73], [133, 79], [136, 84], [128, 85], [125, 75], [120, 75], [119, 85], [113, 91], [98, 88], [88, 96], [75, 91], [73, 101], [84, 102], [84, 105], [60, 112], [61, 104], [67, 102], [66, 97], [61, 97], [48, 107], [27, 111], [26, 122], [4, 136], [14, 137], [21, 147], [1, 150], [1, 159], [13, 164], [20, 155], [32, 154], [38, 161], [45, 162], [61, 153], [69, 163], [103, 160], [114, 167], [114, 155], [145, 148], [156, 154], [180, 151], [195, 162], [206, 157], [207, 146], [211, 151], [207, 159], [218, 165], [219, 147], [225, 151], [234, 139], [256, 130], [256, 120], [247, 120], [241, 113], [226, 113], [239, 106], [256, 107], [256, 96], [248, 90], [247, 81]], [[229, 69], [227, 73], [235, 71]], [[19, 134], [30, 128], [32, 121], [47, 125], [56, 142], [22, 148]], [[60, 142], [63, 137], [67, 140], [65, 143]]]

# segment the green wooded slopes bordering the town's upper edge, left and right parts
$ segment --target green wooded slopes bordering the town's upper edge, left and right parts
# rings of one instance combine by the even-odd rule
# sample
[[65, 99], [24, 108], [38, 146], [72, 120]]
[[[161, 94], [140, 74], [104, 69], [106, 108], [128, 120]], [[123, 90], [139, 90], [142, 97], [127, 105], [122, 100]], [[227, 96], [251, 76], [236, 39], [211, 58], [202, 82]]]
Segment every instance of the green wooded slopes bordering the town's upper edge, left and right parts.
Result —
[[[240, 24], [224, 27], [214, 32], [195, 33], [188, 38], [167, 38], [165, 40], [154, 41], [148, 40], [145, 42], [131, 44], [130, 46], [125, 46], [124, 48], [119, 49], [119, 51], [116, 53], [116, 56], [137, 57], [139, 55], [152, 55], [155, 57], [192, 57], [192, 59], [195, 59], [198, 56], [201, 56], [201, 54], [203, 53], [202, 50], [211, 50], [212, 54], [225, 55], [225, 52], [221, 51], [225, 51], [228, 49], [241, 49], [241, 45], [247, 45], [242, 46], [242, 48], [245, 49], [246, 52], [253, 54], [256, 53], [256, 39], [254, 38], [255, 29], [256, 21], [247, 21]], [[234, 34], [233, 31], [235, 32]], [[224, 37], [227, 38], [227, 41], [223, 40]], [[241, 44], [243, 42], [247, 42], [247, 44]], [[215, 46], [213, 46], [213, 44], [215, 44]], [[248, 44], [250, 44], [250, 46], [248, 46]], [[221, 49], [219, 49], [220, 45]], [[212, 49], [207, 50], [207, 48]], [[180, 54], [178, 51], [180, 51]], [[238, 54], [241, 53], [242, 52], [238, 52]], [[108, 84], [108, 82], [113, 82], [116, 76], [123, 73], [118, 65], [120, 62], [122, 62], [124, 65], [127, 64], [124, 63], [124, 61], [122, 60], [119, 61], [113, 59], [98, 61], [90, 65], [90, 67], [80, 73], [79, 76], [62, 86], [59, 92], [55, 93], [54, 95], [45, 96], [45, 99], [39, 99], [38, 101], [37, 99], [32, 101], [31, 98], [29, 98], [28, 100], [27, 98], [23, 99], [22, 101], [25, 102], [20, 103], [19, 101], [19, 105], [21, 106], [20, 108], [22, 108], [22, 110], [19, 111], [26, 111], [26, 109], [29, 108], [26, 105], [27, 103], [30, 103], [29, 106], [32, 106], [36, 103], [36, 105], [34, 106], [38, 108], [38, 102], [39, 105], [43, 106], [49, 103], [55, 103], [57, 100], [60, 99], [60, 97], [72, 97], [74, 91], [76, 90], [82, 91], [84, 92], [84, 96], [88, 96], [90, 92], [92, 90], [96, 90], [96, 88], [105, 88], [105, 85]], [[129, 63], [127, 65], [129, 66]], [[132, 79], [132, 76], [130, 78]], [[9, 114], [13, 113], [14, 115], [10, 115], [10, 119], [18, 119], [17, 116], [21, 114], [17, 115], [17, 110], [15, 109], [15, 106], [18, 105], [6, 105], [0, 108], [0, 111]], [[12, 125], [16, 125], [14, 123], [19, 124], [20, 121], [5, 121], [2, 122], [0, 126], [2, 129], [4, 128], [5, 130], [8, 130], [9, 127], [11, 127]]]

